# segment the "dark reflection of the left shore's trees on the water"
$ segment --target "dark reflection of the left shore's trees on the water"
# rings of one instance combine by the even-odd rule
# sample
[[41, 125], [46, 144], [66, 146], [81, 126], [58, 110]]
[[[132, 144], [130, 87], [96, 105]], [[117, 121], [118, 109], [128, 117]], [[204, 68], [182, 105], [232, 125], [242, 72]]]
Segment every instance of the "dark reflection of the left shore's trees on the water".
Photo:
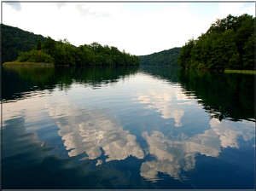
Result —
[[24, 99], [29, 92], [69, 90], [81, 83], [93, 88], [116, 83], [139, 67], [3, 67], [3, 100]]

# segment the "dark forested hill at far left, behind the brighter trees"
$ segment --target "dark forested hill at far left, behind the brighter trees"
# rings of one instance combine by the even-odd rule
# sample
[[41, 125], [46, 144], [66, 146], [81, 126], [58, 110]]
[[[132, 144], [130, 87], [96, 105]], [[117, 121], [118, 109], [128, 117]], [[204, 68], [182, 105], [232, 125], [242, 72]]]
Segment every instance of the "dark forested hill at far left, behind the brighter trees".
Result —
[[1, 24], [2, 30], [2, 64], [5, 61], [15, 61], [20, 52], [32, 50], [37, 44], [38, 37], [42, 43], [45, 39], [42, 35], [26, 32], [20, 28]]

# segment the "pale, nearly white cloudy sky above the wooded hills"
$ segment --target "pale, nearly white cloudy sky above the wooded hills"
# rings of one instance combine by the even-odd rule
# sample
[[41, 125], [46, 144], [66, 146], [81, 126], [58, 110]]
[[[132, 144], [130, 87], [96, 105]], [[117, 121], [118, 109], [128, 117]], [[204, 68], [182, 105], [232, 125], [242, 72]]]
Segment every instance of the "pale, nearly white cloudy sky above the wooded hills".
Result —
[[67, 38], [76, 46], [98, 42], [149, 55], [182, 47], [228, 14], [252, 14], [255, 3], [3, 3], [3, 24]]

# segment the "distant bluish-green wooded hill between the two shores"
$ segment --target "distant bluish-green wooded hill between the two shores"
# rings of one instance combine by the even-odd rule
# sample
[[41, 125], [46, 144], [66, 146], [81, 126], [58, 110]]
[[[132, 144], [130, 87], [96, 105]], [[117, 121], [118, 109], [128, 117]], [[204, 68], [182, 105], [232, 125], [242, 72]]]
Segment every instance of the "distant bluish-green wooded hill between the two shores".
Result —
[[141, 65], [177, 65], [181, 48], [163, 50], [151, 55], [140, 55]]

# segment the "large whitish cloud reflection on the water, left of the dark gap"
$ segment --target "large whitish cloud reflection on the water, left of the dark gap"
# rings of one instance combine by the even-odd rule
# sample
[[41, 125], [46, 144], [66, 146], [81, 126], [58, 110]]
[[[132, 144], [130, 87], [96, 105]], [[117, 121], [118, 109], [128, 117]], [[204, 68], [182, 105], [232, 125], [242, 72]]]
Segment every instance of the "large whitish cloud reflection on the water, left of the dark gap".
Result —
[[[88, 159], [97, 159], [103, 150], [108, 156], [106, 162], [129, 156], [144, 158], [136, 136], [123, 130], [118, 120], [113, 119], [107, 111], [96, 108], [83, 110], [64, 99], [57, 101], [55, 106], [48, 104], [46, 107], [60, 128], [58, 133], [70, 157], [85, 152]], [[98, 159], [96, 165], [101, 164], [102, 160]]]

